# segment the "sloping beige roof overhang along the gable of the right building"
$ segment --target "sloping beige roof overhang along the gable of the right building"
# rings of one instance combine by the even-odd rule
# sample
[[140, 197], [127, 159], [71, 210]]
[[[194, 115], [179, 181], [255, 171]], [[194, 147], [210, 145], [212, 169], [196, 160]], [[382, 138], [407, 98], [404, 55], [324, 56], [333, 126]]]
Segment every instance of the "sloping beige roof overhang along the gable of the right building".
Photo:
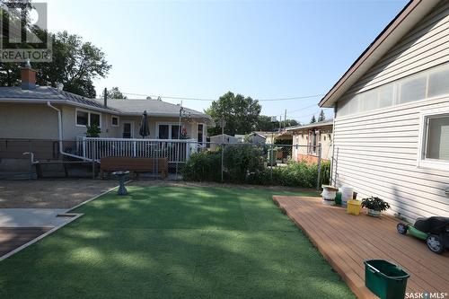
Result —
[[410, 31], [440, 0], [411, 0], [375, 38], [348, 71], [321, 99], [320, 107], [332, 107], [385, 53]]

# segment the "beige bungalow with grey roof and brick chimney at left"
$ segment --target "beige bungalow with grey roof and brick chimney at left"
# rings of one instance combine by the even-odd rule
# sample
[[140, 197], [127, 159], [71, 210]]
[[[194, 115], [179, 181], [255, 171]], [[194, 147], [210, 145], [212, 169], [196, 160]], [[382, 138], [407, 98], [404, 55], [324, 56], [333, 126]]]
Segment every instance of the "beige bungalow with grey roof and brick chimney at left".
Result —
[[[40, 142], [40, 146], [31, 149], [37, 159], [77, 155], [74, 142], [85, 136], [86, 125], [98, 125], [101, 137], [141, 138], [139, 128], [144, 110], [150, 128], [146, 139], [179, 139], [181, 126], [189, 138], [202, 143], [207, 140], [207, 126], [213, 125], [207, 114], [186, 108], [180, 121], [180, 106], [168, 102], [87, 99], [62, 88], [38, 86], [35, 78], [36, 72], [24, 67], [22, 86], [0, 87], [0, 167], [4, 153], [13, 150], [11, 146], [16, 145], [14, 150], [20, 154], [30, 151], [31, 145], [23, 142], [19, 146], [19, 140], [34, 145]], [[55, 154], [53, 143], [58, 141], [63, 145]]]

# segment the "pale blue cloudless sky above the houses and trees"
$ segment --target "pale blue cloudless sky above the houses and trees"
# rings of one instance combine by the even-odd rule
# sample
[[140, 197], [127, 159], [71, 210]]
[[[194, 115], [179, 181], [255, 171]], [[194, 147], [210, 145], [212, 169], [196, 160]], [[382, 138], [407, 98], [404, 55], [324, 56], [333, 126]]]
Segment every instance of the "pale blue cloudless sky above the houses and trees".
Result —
[[[216, 99], [232, 91], [273, 99], [328, 92], [406, 3], [49, 0], [48, 27], [79, 34], [107, 54], [112, 69], [95, 82], [97, 93], [119, 86], [136, 94]], [[319, 100], [260, 103], [265, 115], [287, 110], [288, 119], [308, 122]], [[204, 110], [210, 101], [183, 105]]]

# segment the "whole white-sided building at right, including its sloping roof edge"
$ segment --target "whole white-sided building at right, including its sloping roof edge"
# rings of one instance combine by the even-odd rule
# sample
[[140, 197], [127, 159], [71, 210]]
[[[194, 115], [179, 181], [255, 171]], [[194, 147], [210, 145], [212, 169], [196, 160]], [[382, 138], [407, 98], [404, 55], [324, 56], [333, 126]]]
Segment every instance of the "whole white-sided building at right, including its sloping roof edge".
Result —
[[448, 24], [448, 1], [410, 1], [320, 102], [332, 180], [408, 219], [449, 216]]

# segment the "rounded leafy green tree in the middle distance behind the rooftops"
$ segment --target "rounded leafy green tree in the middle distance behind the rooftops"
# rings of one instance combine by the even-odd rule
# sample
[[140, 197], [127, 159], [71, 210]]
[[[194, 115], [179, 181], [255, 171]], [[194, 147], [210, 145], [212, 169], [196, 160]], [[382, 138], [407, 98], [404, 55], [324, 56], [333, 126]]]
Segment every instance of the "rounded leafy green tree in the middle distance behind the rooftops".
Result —
[[[218, 124], [219, 119], [226, 120], [225, 133], [248, 134], [258, 124], [260, 110], [259, 101], [242, 94], [226, 92], [218, 101], [213, 101], [206, 113]], [[221, 128], [209, 128], [210, 135], [221, 134]]]

